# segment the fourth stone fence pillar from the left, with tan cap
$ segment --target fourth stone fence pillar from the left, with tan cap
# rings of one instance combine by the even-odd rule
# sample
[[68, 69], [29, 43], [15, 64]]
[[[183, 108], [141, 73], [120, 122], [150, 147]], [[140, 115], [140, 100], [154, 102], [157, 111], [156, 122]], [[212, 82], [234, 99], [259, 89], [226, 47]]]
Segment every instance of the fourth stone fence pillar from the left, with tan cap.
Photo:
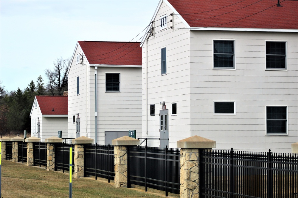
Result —
[[63, 139], [52, 136], [45, 139], [46, 142], [46, 170], [55, 170], [55, 143], [62, 143]]

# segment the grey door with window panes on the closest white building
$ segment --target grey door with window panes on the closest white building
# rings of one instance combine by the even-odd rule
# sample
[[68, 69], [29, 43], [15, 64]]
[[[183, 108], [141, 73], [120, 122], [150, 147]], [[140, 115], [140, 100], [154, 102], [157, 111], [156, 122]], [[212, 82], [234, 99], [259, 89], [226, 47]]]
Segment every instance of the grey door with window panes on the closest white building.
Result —
[[[168, 116], [169, 115], [169, 110], [160, 110], [159, 111], [159, 117], [160, 117], [160, 121], [159, 121], [159, 138], [169, 138], [169, 120], [168, 120]], [[169, 140], [160, 140], [160, 145], [159, 147], [169, 147]]]

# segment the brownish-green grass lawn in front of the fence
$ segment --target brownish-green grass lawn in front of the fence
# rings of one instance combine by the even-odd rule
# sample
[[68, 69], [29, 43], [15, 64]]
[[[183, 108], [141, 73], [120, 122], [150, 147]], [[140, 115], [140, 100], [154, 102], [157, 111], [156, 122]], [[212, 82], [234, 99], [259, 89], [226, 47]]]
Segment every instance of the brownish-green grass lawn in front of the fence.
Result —
[[[69, 197], [69, 174], [2, 160], [1, 197]], [[164, 193], [164, 192], [161, 192]], [[164, 194], [161, 195], [164, 197]], [[179, 195], [178, 195], [179, 196]], [[160, 197], [133, 189], [116, 189], [114, 182], [72, 178], [72, 197]]]

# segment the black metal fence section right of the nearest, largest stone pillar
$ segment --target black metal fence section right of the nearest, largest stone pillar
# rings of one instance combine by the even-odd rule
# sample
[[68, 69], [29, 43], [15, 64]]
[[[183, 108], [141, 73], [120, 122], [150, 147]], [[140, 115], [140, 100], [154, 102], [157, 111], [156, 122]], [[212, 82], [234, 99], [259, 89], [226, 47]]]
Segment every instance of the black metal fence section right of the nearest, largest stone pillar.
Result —
[[202, 197], [297, 198], [296, 154], [200, 150]]

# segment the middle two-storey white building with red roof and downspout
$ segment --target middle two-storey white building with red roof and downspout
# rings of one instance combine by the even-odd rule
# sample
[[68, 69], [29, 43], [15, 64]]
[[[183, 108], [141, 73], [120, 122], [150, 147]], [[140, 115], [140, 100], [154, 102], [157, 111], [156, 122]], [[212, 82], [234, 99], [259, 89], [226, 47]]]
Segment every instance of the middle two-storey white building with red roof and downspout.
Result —
[[142, 136], [140, 42], [78, 41], [68, 73], [68, 132], [97, 144]]

